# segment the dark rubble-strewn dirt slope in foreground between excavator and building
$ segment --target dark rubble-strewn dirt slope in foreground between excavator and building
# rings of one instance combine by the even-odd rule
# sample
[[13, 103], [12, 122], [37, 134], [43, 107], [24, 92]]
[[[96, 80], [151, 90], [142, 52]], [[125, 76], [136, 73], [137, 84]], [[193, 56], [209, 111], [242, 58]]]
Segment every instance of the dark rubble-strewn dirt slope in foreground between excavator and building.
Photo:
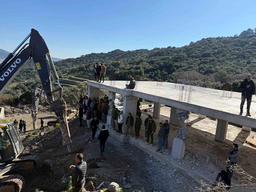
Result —
[[[166, 166], [131, 144], [122, 144], [112, 137], [109, 137], [106, 142], [104, 156], [100, 156], [99, 141], [92, 141], [92, 132], [85, 128], [85, 124], [84, 121], [83, 126], [79, 127], [78, 119], [69, 122], [72, 138], [71, 154], [68, 154], [66, 146], [62, 146], [60, 129], [44, 132], [42, 136], [23, 142], [25, 154], [38, 155], [41, 157], [41, 163], [45, 160], [52, 163], [50, 166], [39, 167], [35, 172], [19, 172], [25, 178], [22, 192], [65, 191], [61, 180], [71, 175], [72, 170], [69, 166], [75, 163], [77, 153], [84, 154], [84, 160], [88, 166], [86, 176], [97, 178], [93, 181], [95, 188], [102, 181], [107, 184], [113, 181], [120, 187], [129, 183], [132, 188], [124, 189], [123, 192], [132, 192], [141, 188], [147, 192], [153, 190], [190, 192], [192, 191], [190, 186], [196, 186], [195, 182], [186, 178], [175, 168]], [[100, 130], [97, 131], [96, 136], [99, 132]], [[120, 172], [125, 172], [125, 175], [121, 176]], [[168, 176], [167, 172], [173, 173], [175, 179], [171, 179], [172, 176]], [[17, 172], [8, 174], [12, 173]], [[178, 183], [177, 180], [179, 180]]]

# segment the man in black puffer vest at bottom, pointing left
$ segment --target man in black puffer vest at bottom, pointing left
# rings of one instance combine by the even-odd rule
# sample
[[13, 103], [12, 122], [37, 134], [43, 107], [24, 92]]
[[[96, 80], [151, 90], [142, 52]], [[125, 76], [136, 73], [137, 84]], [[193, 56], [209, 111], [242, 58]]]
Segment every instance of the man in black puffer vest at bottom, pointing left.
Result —
[[83, 161], [82, 153], [76, 154], [75, 162], [77, 165], [71, 165], [69, 168], [74, 169], [72, 174], [72, 192], [82, 192], [85, 184], [85, 175], [87, 164]]

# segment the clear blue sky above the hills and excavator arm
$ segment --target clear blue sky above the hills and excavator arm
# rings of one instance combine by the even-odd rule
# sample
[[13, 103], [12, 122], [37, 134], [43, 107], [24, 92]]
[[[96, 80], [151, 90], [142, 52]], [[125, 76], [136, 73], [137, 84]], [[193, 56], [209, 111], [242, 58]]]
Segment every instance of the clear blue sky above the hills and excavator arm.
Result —
[[0, 49], [35, 28], [52, 57], [184, 46], [256, 28], [255, 0], [2, 1]]

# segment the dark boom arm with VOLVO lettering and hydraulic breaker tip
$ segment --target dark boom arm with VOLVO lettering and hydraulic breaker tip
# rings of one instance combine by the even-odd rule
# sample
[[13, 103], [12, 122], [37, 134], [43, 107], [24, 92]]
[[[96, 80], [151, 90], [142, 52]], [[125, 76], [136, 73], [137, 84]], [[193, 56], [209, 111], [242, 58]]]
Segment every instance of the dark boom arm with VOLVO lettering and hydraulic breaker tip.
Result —
[[[17, 54], [11, 61], [8, 62], [18, 48], [29, 38], [29, 45], [22, 48], [22, 51]], [[49, 59], [49, 62], [47, 60]], [[52, 110], [59, 119], [60, 129], [63, 137], [62, 144], [68, 145], [68, 152], [71, 152], [69, 144], [71, 143], [70, 133], [68, 129], [66, 102], [62, 98], [62, 88], [59, 83], [59, 77], [53, 65], [49, 49], [44, 42], [43, 37], [35, 29], [31, 29], [31, 33], [23, 40], [23, 42], [10, 53], [8, 57], [0, 64], [0, 94], [12, 82], [14, 77], [20, 72], [24, 64], [33, 58], [36, 70], [41, 79], [43, 89]], [[8, 63], [7, 63], [8, 62]], [[52, 67], [54, 76], [59, 84], [57, 90], [52, 91], [51, 73], [49, 63]], [[59, 91], [59, 98], [53, 99], [53, 92]]]

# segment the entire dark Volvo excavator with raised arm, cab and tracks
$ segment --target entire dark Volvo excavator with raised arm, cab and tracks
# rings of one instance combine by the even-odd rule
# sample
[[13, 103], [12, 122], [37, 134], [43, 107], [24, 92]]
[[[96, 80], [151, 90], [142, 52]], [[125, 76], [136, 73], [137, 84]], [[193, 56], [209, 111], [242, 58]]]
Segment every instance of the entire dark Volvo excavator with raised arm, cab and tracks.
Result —
[[[29, 37], [29, 43], [22, 46]], [[22, 48], [20, 49], [21, 46]], [[18, 53], [14, 56], [17, 51]], [[60, 86], [59, 77], [49, 49], [43, 37], [35, 29], [31, 29], [31, 33], [0, 64], [0, 94], [31, 58], [41, 79], [47, 102], [58, 118], [63, 138], [62, 144], [67, 145], [70, 153], [72, 141], [68, 129], [67, 105], [62, 97], [62, 87]], [[59, 85], [56, 90], [52, 90], [50, 67]], [[59, 92], [58, 98], [53, 98], [54, 92]], [[20, 156], [23, 149], [16, 125], [14, 123], [0, 124], [0, 192], [20, 192], [24, 183], [24, 178], [21, 175], [6, 175], [7, 172], [17, 170], [32, 171], [38, 166], [40, 161], [38, 156]]]

